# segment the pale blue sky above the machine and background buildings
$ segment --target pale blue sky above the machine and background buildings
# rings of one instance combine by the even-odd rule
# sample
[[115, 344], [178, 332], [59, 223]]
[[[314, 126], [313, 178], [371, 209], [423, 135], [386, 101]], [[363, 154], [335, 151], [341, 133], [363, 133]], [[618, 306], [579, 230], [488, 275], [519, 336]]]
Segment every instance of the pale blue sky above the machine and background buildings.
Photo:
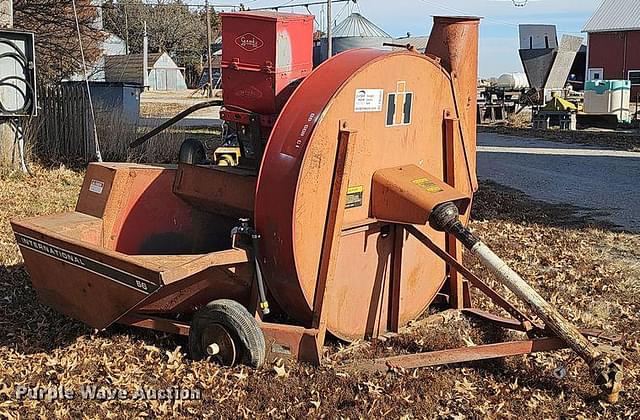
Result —
[[[249, 8], [304, 4], [317, 0], [239, 0]], [[520, 0], [524, 1], [524, 0]], [[210, 0], [216, 4], [235, 4], [234, 0]], [[193, 0], [192, 4], [202, 1]], [[524, 7], [514, 6], [512, 0], [358, 0], [335, 4], [337, 21], [349, 12], [359, 11], [393, 36], [428, 35], [433, 15], [474, 15], [484, 17], [480, 26], [480, 77], [522, 71], [518, 57], [518, 24], [554, 24], [559, 37], [563, 33], [581, 35], [584, 24], [597, 9], [601, 0], [529, 0]], [[309, 7], [318, 21], [325, 19], [321, 6]], [[281, 9], [306, 13], [306, 9]]]

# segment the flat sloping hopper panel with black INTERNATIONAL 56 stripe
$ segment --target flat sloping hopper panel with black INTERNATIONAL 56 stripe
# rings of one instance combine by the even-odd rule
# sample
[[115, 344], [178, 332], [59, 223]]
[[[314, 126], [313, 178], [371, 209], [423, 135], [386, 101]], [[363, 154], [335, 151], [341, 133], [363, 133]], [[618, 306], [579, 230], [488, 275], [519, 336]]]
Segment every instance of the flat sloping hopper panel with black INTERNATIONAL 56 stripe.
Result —
[[38, 298], [93, 328], [106, 328], [159, 287], [157, 273], [94, 245], [28, 221], [13, 229]]

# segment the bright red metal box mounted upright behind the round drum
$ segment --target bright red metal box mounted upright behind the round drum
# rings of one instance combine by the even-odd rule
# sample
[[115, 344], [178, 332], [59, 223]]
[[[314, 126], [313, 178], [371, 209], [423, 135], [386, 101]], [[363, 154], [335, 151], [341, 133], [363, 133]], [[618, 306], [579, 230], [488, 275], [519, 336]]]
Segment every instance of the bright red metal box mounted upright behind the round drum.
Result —
[[258, 168], [278, 114], [313, 69], [313, 16], [223, 13], [222, 28], [223, 142]]

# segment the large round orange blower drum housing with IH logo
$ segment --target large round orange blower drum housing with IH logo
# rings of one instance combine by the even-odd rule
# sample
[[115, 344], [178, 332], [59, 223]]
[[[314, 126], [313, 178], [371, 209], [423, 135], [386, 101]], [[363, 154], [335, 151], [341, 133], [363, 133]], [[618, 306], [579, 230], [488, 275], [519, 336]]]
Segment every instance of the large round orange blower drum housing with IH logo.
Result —
[[[355, 95], [362, 89], [384, 91], [379, 112], [355, 112]], [[345, 226], [359, 228], [352, 232], [356, 237], [349, 238], [351, 232], [345, 231], [341, 238], [344, 246], [338, 255], [334, 298], [325, 301], [325, 310], [336, 314], [327, 320], [329, 331], [347, 340], [362, 338], [369, 335], [372, 314], [377, 314], [374, 330], [384, 332], [390, 324], [404, 325], [415, 318], [435, 297], [446, 277], [445, 264], [405, 235], [399, 247], [403, 263], [398, 268], [398, 314], [389, 319], [385, 302], [394, 233], [376, 233], [385, 224], [371, 215], [371, 180], [379, 169], [408, 164], [444, 177], [440, 139], [444, 111], [454, 109], [451, 92], [448, 74], [430, 57], [354, 50], [318, 67], [294, 93], [267, 144], [255, 214], [264, 238], [268, 286], [291, 316], [303, 322], [311, 318], [334, 165], [326, 151], [335, 150], [338, 122], [343, 119], [362, 139], [356, 146], [349, 185], [353, 202], [344, 216]], [[398, 117], [387, 126], [389, 108], [392, 116], [407, 115], [402, 107], [390, 106], [389, 95], [407, 100], [408, 93], [413, 107], [410, 123], [403, 124], [405, 120]], [[459, 176], [466, 177], [466, 168], [461, 170], [465, 172]], [[361, 233], [369, 225], [370, 233]], [[423, 230], [444, 245], [444, 234], [428, 227]], [[348, 317], [340, 315], [344, 307], [351, 308]]]

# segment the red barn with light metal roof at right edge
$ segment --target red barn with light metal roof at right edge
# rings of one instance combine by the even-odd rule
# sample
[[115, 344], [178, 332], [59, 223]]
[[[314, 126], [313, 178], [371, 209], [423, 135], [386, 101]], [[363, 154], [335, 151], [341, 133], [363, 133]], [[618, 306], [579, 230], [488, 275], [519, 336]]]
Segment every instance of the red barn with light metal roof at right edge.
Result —
[[604, 0], [587, 22], [587, 80], [631, 80], [640, 95], [640, 0]]

